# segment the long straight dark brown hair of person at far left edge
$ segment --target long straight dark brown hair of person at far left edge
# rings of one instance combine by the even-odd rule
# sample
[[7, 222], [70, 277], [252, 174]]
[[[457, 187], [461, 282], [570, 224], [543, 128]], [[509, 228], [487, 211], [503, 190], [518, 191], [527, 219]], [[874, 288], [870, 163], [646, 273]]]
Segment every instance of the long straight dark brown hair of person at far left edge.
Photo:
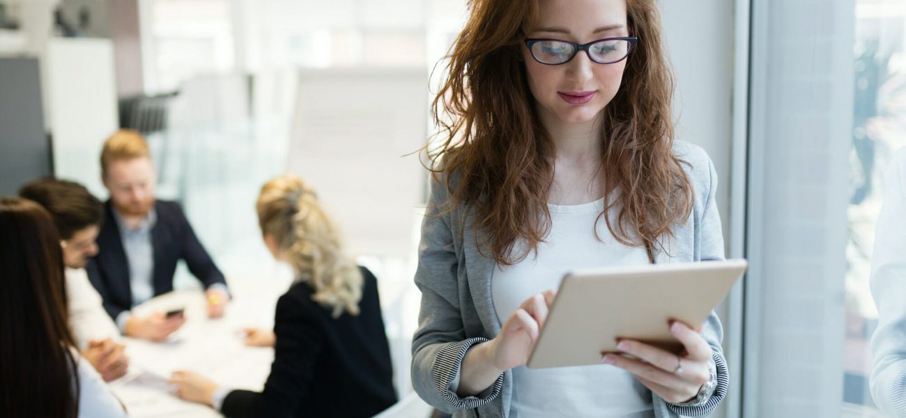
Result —
[[0, 197], [0, 231], [0, 415], [74, 418], [60, 236], [47, 211], [19, 197]]

